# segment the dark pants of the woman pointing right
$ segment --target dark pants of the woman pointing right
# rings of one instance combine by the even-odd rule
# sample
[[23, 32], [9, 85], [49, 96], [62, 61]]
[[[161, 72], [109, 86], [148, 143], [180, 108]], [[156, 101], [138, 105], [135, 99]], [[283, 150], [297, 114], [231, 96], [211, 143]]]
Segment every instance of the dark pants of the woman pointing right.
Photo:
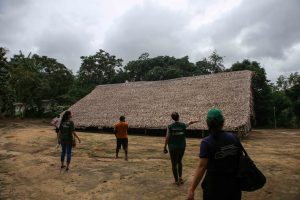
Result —
[[173, 176], [176, 182], [178, 182], [178, 179], [182, 176], [182, 158], [184, 151], [185, 149], [169, 149]]

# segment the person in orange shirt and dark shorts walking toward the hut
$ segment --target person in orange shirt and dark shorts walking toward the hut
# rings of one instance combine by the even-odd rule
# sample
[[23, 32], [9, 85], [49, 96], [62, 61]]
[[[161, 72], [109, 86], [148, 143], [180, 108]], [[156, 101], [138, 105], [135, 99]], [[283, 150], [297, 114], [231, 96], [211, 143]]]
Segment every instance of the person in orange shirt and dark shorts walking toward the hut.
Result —
[[116, 158], [118, 158], [121, 146], [125, 151], [125, 160], [128, 160], [128, 123], [125, 122], [125, 117], [121, 116], [120, 121], [115, 124], [114, 133], [117, 138]]

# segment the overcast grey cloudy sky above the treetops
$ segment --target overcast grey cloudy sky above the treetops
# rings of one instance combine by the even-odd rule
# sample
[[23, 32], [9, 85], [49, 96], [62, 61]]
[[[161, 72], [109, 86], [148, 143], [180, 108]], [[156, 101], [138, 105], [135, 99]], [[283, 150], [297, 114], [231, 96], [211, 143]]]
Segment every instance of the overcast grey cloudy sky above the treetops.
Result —
[[256, 60], [275, 81], [300, 71], [300, 0], [0, 0], [0, 46], [74, 73], [99, 49], [123, 65], [144, 52], [196, 62], [217, 50], [226, 68]]

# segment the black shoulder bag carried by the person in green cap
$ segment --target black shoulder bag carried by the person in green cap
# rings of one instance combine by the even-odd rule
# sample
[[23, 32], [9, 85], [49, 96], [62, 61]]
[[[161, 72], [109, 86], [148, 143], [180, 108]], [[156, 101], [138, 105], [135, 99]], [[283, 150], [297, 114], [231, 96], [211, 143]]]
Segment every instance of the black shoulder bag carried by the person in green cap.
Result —
[[262, 188], [266, 183], [266, 177], [255, 166], [243, 145], [240, 143], [242, 153], [239, 160], [237, 177], [242, 191], [255, 191]]

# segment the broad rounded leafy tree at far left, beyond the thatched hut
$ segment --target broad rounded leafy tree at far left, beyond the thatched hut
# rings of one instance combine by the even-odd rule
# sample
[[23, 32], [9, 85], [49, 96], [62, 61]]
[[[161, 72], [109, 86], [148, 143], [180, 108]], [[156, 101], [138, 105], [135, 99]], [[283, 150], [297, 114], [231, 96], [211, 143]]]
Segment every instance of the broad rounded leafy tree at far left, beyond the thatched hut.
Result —
[[11, 58], [9, 66], [16, 101], [34, 108], [33, 112], [42, 111], [43, 100], [64, 104], [63, 96], [72, 85], [73, 75], [63, 64], [46, 56], [25, 56], [20, 52]]

